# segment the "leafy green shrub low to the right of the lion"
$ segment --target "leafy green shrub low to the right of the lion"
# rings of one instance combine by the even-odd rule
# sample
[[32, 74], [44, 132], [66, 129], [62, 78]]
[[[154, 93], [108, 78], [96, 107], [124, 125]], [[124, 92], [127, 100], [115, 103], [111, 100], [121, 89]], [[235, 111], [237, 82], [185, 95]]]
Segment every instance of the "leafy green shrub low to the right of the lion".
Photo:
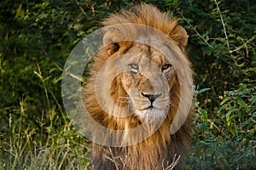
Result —
[[195, 144], [189, 161], [195, 169], [255, 167], [256, 88], [241, 86], [219, 98], [215, 111], [195, 105]]

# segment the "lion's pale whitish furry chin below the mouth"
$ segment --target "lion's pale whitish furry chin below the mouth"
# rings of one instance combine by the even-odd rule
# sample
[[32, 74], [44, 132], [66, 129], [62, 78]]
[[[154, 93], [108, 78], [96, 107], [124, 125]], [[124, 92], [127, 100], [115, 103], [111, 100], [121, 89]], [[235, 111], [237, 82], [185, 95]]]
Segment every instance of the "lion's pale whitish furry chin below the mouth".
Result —
[[145, 110], [136, 110], [136, 115], [143, 122], [158, 122], [166, 118], [166, 111], [150, 107]]

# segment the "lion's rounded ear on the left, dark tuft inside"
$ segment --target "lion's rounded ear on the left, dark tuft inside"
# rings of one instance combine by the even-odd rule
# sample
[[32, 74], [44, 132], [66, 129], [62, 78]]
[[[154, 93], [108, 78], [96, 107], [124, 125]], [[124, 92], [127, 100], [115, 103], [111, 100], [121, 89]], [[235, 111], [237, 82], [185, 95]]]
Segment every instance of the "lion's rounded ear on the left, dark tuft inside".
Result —
[[106, 49], [108, 55], [112, 55], [116, 53], [120, 46], [119, 46], [119, 41], [120, 41], [120, 33], [119, 31], [108, 31], [104, 37], [103, 37], [103, 45], [104, 48]]

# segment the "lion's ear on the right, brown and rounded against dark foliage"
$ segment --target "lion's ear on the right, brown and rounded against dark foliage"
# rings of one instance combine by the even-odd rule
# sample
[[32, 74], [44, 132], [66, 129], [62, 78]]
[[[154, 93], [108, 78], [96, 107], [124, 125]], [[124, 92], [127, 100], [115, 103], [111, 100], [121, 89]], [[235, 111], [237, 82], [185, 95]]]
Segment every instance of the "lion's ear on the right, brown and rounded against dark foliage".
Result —
[[176, 26], [170, 36], [175, 42], [177, 42], [179, 48], [184, 51], [185, 47], [187, 46], [189, 37], [187, 31], [185, 31], [182, 26]]

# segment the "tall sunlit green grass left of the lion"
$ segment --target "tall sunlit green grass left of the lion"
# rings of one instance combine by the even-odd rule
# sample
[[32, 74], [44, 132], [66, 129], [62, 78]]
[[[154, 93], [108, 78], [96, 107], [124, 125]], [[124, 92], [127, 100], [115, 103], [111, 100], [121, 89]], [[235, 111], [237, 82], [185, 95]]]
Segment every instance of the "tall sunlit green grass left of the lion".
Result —
[[10, 114], [9, 131], [0, 136], [0, 169], [87, 169], [89, 143], [77, 133], [50, 92], [49, 77], [43, 77], [39, 66], [34, 73], [43, 84], [48, 108], [36, 119], [38, 126], [26, 122], [27, 114], [31, 114], [26, 99], [20, 101], [20, 108], [1, 110]]

